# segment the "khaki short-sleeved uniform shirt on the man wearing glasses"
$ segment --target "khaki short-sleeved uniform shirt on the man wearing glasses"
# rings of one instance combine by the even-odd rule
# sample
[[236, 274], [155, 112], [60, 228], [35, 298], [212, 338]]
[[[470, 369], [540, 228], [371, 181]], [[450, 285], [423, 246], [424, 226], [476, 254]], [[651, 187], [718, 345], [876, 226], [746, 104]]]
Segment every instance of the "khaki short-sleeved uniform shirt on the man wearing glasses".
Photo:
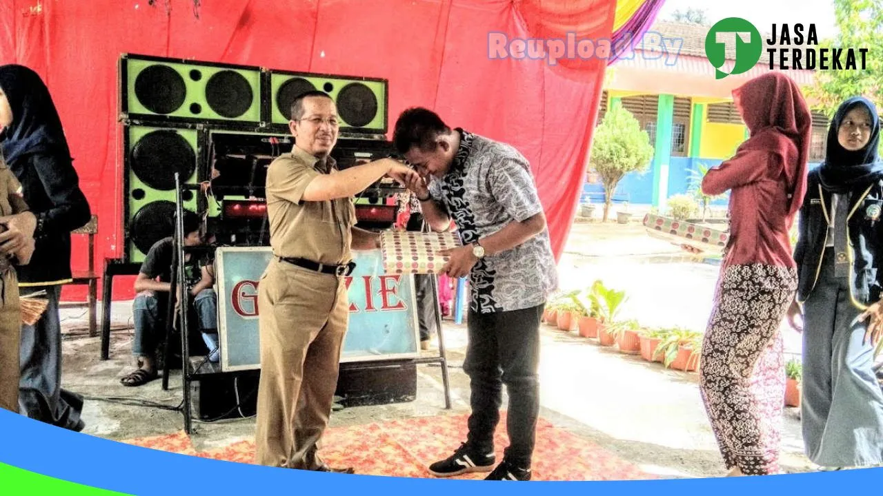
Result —
[[336, 172], [334, 159], [320, 162], [297, 146], [291, 154], [283, 154], [270, 164], [267, 214], [275, 256], [328, 265], [350, 262], [350, 229], [356, 224], [351, 199], [302, 201], [306, 186], [314, 178]]

